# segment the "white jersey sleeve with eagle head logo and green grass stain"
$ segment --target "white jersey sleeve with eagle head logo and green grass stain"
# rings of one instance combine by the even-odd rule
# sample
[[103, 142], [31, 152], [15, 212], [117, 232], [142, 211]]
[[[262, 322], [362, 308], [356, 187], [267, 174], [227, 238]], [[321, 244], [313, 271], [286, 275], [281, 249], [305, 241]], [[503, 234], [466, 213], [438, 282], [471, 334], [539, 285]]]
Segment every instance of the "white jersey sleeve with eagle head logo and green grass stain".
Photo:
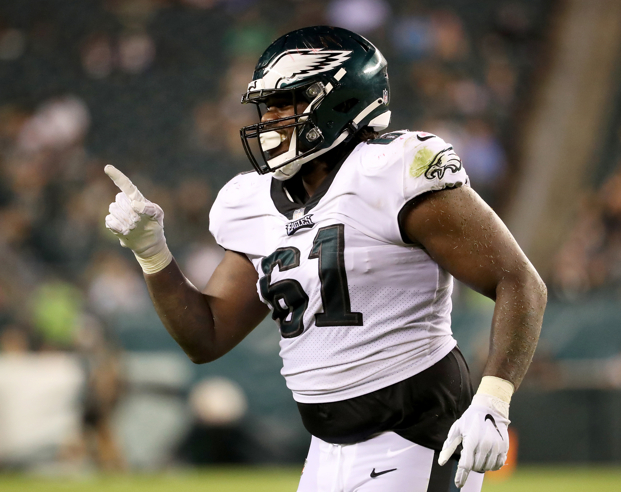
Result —
[[453, 146], [430, 133], [416, 133], [403, 147], [403, 195], [407, 202], [426, 191], [469, 185]]

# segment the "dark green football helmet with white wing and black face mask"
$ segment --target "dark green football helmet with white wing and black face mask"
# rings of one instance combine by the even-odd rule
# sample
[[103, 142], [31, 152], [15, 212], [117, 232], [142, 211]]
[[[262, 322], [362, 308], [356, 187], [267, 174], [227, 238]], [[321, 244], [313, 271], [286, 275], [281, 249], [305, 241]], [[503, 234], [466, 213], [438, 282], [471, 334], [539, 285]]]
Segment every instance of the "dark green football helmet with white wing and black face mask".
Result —
[[[349, 141], [363, 126], [386, 128], [391, 114], [386, 65], [373, 43], [340, 27], [305, 27], [274, 41], [259, 58], [242, 103], [255, 103], [259, 118], [261, 103], [269, 97], [291, 97], [294, 108], [300, 98], [309, 105], [290, 118], [240, 130], [256, 171], [286, 180], [305, 162]], [[270, 158], [270, 149], [284, 139], [274, 131], [274, 123], [282, 125], [279, 130], [294, 130], [289, 149]]]

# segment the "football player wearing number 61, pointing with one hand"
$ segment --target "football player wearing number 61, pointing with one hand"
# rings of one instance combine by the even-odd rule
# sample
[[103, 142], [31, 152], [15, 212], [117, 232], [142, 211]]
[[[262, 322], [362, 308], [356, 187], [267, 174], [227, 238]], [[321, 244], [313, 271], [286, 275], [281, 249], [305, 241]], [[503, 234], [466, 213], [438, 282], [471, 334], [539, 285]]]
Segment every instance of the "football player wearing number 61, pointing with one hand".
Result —
[[[192, 361], [213, 361], [271, 310], [282, 374], [311, 448], [299, 492], [479, 491], [507, 456], [509, 402], [532, 359], [545, 284], [468, 186], [442, 138], [379, 136], [386, 60], [315, 26], [276, 40], [243, 95], [256, 172], [220, 190], [224, 260], [203, 292], [166, 247], [163, 211], [112, 166], [106, 225], [142, 265], [153, 304]], [[494, 299], [478, 391], [451, 336], [453, 276]]]

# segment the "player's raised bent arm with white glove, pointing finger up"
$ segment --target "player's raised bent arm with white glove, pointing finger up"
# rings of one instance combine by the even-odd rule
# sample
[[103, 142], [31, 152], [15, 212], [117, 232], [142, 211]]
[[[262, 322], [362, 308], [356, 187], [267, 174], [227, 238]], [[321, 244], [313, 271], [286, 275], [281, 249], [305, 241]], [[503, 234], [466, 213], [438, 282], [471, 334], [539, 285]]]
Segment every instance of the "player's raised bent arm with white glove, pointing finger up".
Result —
[[110, 204], [106, 226], [142, 266], [162, 323], [197, 364], [227, 353], [265, 318], [269, 309], [256, 292], [258, 275], [242, 253], [227, 251], [204, 292], [183, 276], [164, 237], [164, 213], [122, 172], [106, 174], [121, 190]]

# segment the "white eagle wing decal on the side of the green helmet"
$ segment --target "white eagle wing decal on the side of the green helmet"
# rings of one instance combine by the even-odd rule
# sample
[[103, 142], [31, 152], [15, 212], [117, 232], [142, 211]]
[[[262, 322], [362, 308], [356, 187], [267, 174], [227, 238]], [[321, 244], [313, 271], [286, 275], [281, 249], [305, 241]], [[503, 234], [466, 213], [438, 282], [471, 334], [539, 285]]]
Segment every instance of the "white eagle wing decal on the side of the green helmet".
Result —
[[327, 72], [350, 59], [351, 51], [323, 49], [283, 51], [263, 72], [263, 87], [278, 89], [301, 78]]

